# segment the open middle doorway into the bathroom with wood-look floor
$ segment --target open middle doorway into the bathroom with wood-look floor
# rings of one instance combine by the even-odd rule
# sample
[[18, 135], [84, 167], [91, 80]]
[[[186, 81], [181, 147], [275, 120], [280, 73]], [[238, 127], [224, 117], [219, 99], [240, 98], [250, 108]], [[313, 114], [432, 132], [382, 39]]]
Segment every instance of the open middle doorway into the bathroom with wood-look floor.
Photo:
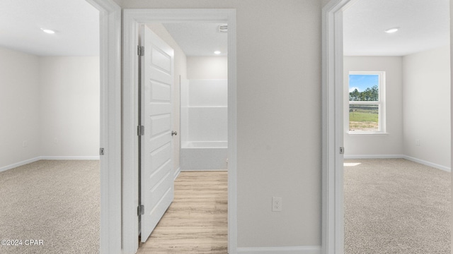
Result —
[[[222, 25], [222, 30], [219, 26]], [[151, 107], [161, 107], [163, 104], [172, 104], [173, 111], [159, 111], [151, 119], [156, 121], [148, 123], [151, 128], [157, 123], [158, 119], [173, 114], [173, 128], [162, 128], [161, 132], [151, 135], [159, 138], [164, 135], [167, 138], [172, 136], [173, 140], [173, 158], [159, 159], [159, 165], [155, 171], [151, 173], [151, 184], [156, 181], [159, 188], [165, 188], [169, 191], [167, 195], [174, 195], [173, 202], [168, 205], [162, 217], [156, 214], [159, 208], [152, 209], [154, 215], [147, 216], [147, 190], [149, 188], [146, 181], [142, 181], [147, 177], [146, 160], [147, 152], [141, 153], [141, 174], [139, 181], [141, 191], [141, 204], [144, 204], [144, 214], [139, 217], [139, 226], [141, 232], [141, 241], [138, 253], [154, 253], [162, 251], [173, 252], [202, 252], [202, 251], [218, 251], [226, 253], [227, 251], [227, 32], [226, 24], [224, 23], [151, 23], [141, 27], [141, 32], [145, 36], [141, 36], [142, 40], [146, 38], [146, 30], [149, 28], [151, 42], [142, 41], [144, 46], [144, 56], [140, 57], [142, 63], [142, 73], [145, 75], [144, 83], [141, 85], [141, 92], [144, 90], [151, 91], [151, 97], [159, 98], [158, 100], [151, 99]], [[146, 40], [146, 39], [145, 39]], [[162, 40], [163, 42], [159, 42]], [[165, 42], [166, 46], [162, 47]], [[149, 45], [149, 46], [147, 46]], [[161, 47], [162, 49], [159, 49]], [[166, 49], [173, 49], [173, 54], [170, 52], [164, 54]], [[147, 52], [152, 51], [151, 56]], [[164, 54], [164, 55], [162, 55]], [[154, 56], [152, 56], [154, 55]], [[173, 59], [173, 88], [171, 83], [161, 75], [155, 75], [149, 72], [146, 74], [147, 68], [143, 68], [143, 64], [147, 65], [147, 57], [149, 61], [157, 55], [163, 59]], [[162, 62], [163, 63], [163, 62]], [[164, 64], [156, 62], [151, 63], [149, 68], [160, 66], [159, 71], [171, 73], [171, 68], [164, 71]], [[145, 73], [145, 74], [144, 74]], [[147, 85], [147, 80], [154, 80]], [[163, 79], [163, 80], [162, 80]], [[142, 79], [143, 80], [143, 79]], [[156, 83], [156, 80], [162, 80]], [[178, 84], [179, 83], [179, 84]], [[165, 85], [168, 84], [168, 85]], [[149, 86], [150, 88], [147, 88]], [[166, 95], [159, 96], [159, 91], [173, 91], [173, 99], [167, 100]], [[154, 95], [152, 95], [154, 94]], [[146, 99], [148, 94], [142, 95], [141, 98]], [[157, 110], [157, 109], [156, 109]], [[141, 114], [146, 113], [147, 108], [142, 107]], [[145, 120], [146, 121], [146, 120]], [[163, 120], [162, 120], [163, 121]], [[141, 125], [144, 121], [142, 121]], [[147, 130], [149, 126], [144, 126]], [[172, 133], [172, 135], [170, 135]], [[144, 133], [143, 140], [147, 140]], [[182, 140], [182, 142], [180, 141]], [[166, 145], [162, 148], [151, 152], [151, 161], [157, 159], [159, 152], [164, 152]], [[171, 159], [173, 163], [171, 163]], [[157, 161], [156, 161], [157, 162]], [[162, 164], [160, 164], [162, 162]], [[173, 164], [173, 169], [170, 170], [170, 175], [174, 176], [174, 187], [167, 186], [165, 181], [159, 181], [159, 177], [163, 176], [163, 171], [166, 171], [168, 164]], [[154, 178], [154, 181], [152, 179]], [[151, 186], [151, 188], [154, 188]], [[174, 194], [173, 194], [174, 193]], [[154, 195], [156, 196], [156, 195]], [[159, 201], [164, 205], [163, 197]], [[149, 202], [152, 204], [153, 202]], [[149, 206], [149, 205], [148, 205]], [[167, 207], [167, 205], [164, 205]], [[163, 210], [164, 208], [162, 208]], [[152, 218], [154, 216], [154, 219]], [[159, 217], [159, 218], [158, 218]], [[149, 235], [148, 224], [157, 222], [152, 233]], [[147, 222], [148, 220], [149, 222]], [[183, 238], [185, 241], [177, 241], [176, 239]]]

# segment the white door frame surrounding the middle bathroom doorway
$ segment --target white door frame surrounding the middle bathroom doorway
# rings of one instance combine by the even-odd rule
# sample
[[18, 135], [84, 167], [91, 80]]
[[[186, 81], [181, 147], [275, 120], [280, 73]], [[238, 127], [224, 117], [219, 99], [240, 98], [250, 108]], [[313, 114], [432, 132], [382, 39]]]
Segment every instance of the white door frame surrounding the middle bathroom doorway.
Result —
[[138, 27], [144, 23], [228, 23], [228, 248], [236, 253], [236, 10], [124, 9], [123, 10], [123, 150], [122, 248], [138, 249]]

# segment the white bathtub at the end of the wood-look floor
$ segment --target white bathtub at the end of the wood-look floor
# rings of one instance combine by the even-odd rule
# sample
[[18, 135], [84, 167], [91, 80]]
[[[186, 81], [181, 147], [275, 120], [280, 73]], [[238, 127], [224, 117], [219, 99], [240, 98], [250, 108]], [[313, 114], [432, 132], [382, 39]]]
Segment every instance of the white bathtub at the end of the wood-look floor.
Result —
[[226, 170], [228, 168], [226, 141], [189, 141], [181, 146], [181, 171]]

